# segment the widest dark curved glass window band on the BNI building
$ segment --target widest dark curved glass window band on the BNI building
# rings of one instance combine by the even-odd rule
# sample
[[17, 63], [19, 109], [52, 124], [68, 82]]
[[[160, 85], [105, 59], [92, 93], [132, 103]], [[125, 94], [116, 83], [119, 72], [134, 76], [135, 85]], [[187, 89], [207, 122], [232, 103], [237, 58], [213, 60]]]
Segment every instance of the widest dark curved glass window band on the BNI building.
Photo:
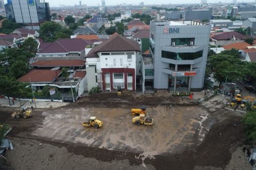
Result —
[[203, 56], [203, 50], [195, 53], [173, 53], [168, 51], [162, 51], [162, 58], [174, 59], [174, 60], [193, 60]]

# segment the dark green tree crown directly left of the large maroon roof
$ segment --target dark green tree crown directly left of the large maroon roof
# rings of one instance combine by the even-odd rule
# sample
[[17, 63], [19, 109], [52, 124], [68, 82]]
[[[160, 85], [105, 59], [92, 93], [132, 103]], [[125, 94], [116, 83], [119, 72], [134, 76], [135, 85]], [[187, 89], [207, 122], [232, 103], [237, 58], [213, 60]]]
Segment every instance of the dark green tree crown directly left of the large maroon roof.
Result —
[[36, 55], [37, 47], [38, 47], [37, 41], [30, 37], [26, 39], [24, 43], [22, 43], [20, 48], [21, 50], [26, 51], [31, 58]]

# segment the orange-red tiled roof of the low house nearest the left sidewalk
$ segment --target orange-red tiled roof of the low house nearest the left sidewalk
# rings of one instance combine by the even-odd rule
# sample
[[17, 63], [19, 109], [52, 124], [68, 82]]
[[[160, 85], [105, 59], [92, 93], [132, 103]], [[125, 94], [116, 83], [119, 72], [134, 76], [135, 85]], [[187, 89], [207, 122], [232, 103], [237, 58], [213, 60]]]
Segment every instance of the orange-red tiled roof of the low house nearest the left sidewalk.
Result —
[[41, 83], [52, 83], [59, 75], [61, 70], [46, 70], [46, 69], [37, 69], [29, 71], [25, 76], [22, 76], [18, 79], [20, 82], [41, 82]]

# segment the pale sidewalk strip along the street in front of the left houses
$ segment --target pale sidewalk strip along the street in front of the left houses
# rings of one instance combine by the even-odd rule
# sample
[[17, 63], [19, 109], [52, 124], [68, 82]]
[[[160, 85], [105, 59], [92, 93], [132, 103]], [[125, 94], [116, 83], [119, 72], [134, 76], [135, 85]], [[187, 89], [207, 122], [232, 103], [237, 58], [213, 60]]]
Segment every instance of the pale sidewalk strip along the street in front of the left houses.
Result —
[[[30, 104], [29, 101], [24, 101], [24, 100], [21, 100], [21, 105], [22, 106], [27, 106], [27, 107], [31, 107], [33, 106], [34, 108], [58, 108], [58, 107], [62, 107], [62, 106], [66, 106], [68, 105], [69, 103], [66, 103], [66, 102], [43, 102], [43, 101], [36, 101], [36, 105], [34, 103]], [[14, 101], [14, 105], [13, 105], [13, 102], [11, 101], [10, 99], [10, 103], [11, 105], [9, 105], [9, 101], [8, 99], [0, 99], [0, 106], [3, 106], [3, 107], [16, 107], [16, 108], [20, 108], [20, 103], [19, 103], [19, 100], [15, 100]]]

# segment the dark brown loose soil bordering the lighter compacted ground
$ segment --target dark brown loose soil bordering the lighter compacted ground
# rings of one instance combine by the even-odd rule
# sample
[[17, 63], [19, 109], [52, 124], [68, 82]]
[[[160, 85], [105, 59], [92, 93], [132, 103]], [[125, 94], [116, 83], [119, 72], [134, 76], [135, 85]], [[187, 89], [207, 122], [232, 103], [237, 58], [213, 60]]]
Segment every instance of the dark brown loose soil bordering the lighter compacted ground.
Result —
[[[98, 107], [126, 107], [134, 105], [134, 103], [146, 104], [150, 106], [159, 105], [163, 101], [169, 103], [179, 103], [179, 98], [170, 97], [169, 99], [158, 98], [157, 96], [149, 96], [142, 100], [134, 98], [134, 96], [121, 96], [121, 101], [115, 102], [117, 96], [113, 94], [102, 94], [88, 97], [82, 102], [71, 105], [76, 106], [98, 106]], [[111, 102], [113, 101], [113, 102]], [[129, 102], [129, 103], [127, 103]], [[74, 143], [61, 143], [60, 141], [48, 141], [44, 138], [28, 135], [31, 131], [36, 129], [38, 125], [42, 124], [44, 116], [42, 111], [34, 111], [34, 115], [28, 119], [11, 119], [10, 113], [12, 110], [3, 108], [0, 111], [0, 124], [7, 123], [13, 127], [13, 130], [9, 133], [10, 137], [36, 139], [45, 143], [56, 145], [57, 147], [66, 147], [68, 152], [72, 152], [78, 155], [84, 155], [85, 157], [94, 157], [100, 161], [112, 161], [112, 160], [129, 160], [131, 165], [141, 165], [142, 160], [137, 159], [138, 153], [122, 152], [115, 150], [106, 150], [92, 147], [85, 147], [82, 144]], [[222, 110], [217, 111], [222, 113]], [[215, 113], [217, 114], [217, 113]], [[213, 118], [214, 119], [214, 118]], [[164, 153], [156, 155], [155, 159], [146, 159], [146, 164], [152, 164], [156, 169], [194, 169], [195, 166], [213, 166], [213, 167], [225, 167], [231, 159], [230, 147], [241, 144], [245, 138], [243, 133], [243, 125], [241, 123], [241, 117], [224, 115], [224, 121], [214, 124], [212, 128], [206, 134], [203, 142], [199, 146], [194, 148], [188, 148], [183, 153], [171, 154]], [[234, 123], [236, 126], [234, 127]], [[196, 138], [196, 137], [195, 137]]]

